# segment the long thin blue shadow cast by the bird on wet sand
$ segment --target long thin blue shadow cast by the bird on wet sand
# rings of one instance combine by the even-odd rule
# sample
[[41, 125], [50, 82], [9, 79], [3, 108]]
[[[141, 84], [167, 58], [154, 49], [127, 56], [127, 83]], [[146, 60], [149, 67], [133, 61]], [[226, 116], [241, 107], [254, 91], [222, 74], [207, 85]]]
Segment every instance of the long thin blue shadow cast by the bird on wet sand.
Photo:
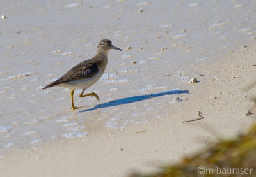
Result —
[[109, 101], [106, 103], [98, 104], [98, 105], [94, 106], [93, 108], [82, 110], [80, 112], [88, 112], [88, 111], [97, 110], [99, 108], [108, 108], [111, 106], [118, 106], [118, 105], [122, 105], [122, 104], [134, 103], [137, 101], [143, 101], [145, 99], [150, 99], [152, 97], [159, 97], [159, 96], [172, 95], [172, 94], [189, 94], [189, 90], [168, 90], [168, 91], [157, 93], [157, 94], [125, 97], [122, 99], [116, 99], [114, 101]]

